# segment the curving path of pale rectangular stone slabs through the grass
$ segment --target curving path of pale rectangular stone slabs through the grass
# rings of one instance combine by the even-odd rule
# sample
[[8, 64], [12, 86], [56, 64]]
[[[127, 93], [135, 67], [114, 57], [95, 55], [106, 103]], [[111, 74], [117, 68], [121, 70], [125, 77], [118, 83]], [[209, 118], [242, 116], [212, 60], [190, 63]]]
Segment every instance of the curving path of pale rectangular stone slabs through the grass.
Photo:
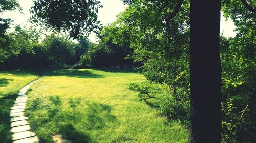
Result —
[[24, 114], [27, 100], [26, 92], [36, 81], [37, 80], [29, 83], [19, 91], [18, 97], [11, 108], [10, 116], [13, 143], [39, 143], [38, 137], [31, 131], [29, 123], [27, 122], [28, 117]]

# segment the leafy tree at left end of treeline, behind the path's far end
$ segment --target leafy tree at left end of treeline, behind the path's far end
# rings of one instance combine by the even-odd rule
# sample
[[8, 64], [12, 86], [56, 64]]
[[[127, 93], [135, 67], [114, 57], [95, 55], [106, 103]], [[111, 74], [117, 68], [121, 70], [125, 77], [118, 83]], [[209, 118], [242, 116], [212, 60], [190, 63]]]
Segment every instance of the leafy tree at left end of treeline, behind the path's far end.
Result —
[[39, 46], [39, 33], [34, 28], [16, 26], [14, 32], [8, 34], [8, 58], [1, 63], [2, 68], [33, 68], [35, 63], [31, 58], [35, 55], [34, 47]]

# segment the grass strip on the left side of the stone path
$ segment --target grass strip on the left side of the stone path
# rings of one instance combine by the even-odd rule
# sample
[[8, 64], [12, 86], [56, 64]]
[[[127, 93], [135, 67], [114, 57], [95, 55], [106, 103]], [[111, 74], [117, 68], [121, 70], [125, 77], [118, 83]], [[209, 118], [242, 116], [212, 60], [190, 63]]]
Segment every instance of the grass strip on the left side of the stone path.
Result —
[[38, 77], [36, 72], [13, 70], [0, 71], [0, 142], [11, 142], [10, 108], [17, 93]]

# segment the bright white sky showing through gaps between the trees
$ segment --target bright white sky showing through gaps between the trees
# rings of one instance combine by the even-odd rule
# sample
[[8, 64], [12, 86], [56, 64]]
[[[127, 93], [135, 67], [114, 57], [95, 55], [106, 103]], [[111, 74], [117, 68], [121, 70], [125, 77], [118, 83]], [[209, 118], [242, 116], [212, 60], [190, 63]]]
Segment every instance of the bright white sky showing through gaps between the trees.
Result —
[[[125, 10], [125, 5], [121, 0], [100, 0], [103, 8], [99, 9], [98, 12], [98, 20], [101, 21], [101, 24], [107, 25], [116, 20], [116, 15]], [[13, 27], [14, 25], [26, 26], [29, 27], [31, 24], [27, 22], [30, 18], [31, 14], [29, 13], [30, 7], [33, 5], [32, 0], [18, 0], [20, 6], [23, 9], [23, 14], [19, 11], [5, 12], [3, 13], [3, 18], [11, 18], [13, 19]], [[236, 32], [234, 32], [234, 23], [228, 19], [225, 21], [225, 18], [221, 14], [221, 32], [226, 37], [234, 37], [236, 36]], [[95, 34], [91, 34], [89, 36], [89, 40], [91, 42], [96, 42], [97, 39]]]

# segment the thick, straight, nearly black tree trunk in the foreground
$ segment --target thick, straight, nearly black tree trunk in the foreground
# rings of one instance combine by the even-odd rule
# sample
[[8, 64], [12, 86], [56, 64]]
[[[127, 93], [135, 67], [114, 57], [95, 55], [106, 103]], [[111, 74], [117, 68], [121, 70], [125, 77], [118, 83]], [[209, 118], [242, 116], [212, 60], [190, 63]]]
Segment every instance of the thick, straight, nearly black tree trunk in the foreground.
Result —
[[190, 143], [221, 142], [220, 0], [190, 0]]

